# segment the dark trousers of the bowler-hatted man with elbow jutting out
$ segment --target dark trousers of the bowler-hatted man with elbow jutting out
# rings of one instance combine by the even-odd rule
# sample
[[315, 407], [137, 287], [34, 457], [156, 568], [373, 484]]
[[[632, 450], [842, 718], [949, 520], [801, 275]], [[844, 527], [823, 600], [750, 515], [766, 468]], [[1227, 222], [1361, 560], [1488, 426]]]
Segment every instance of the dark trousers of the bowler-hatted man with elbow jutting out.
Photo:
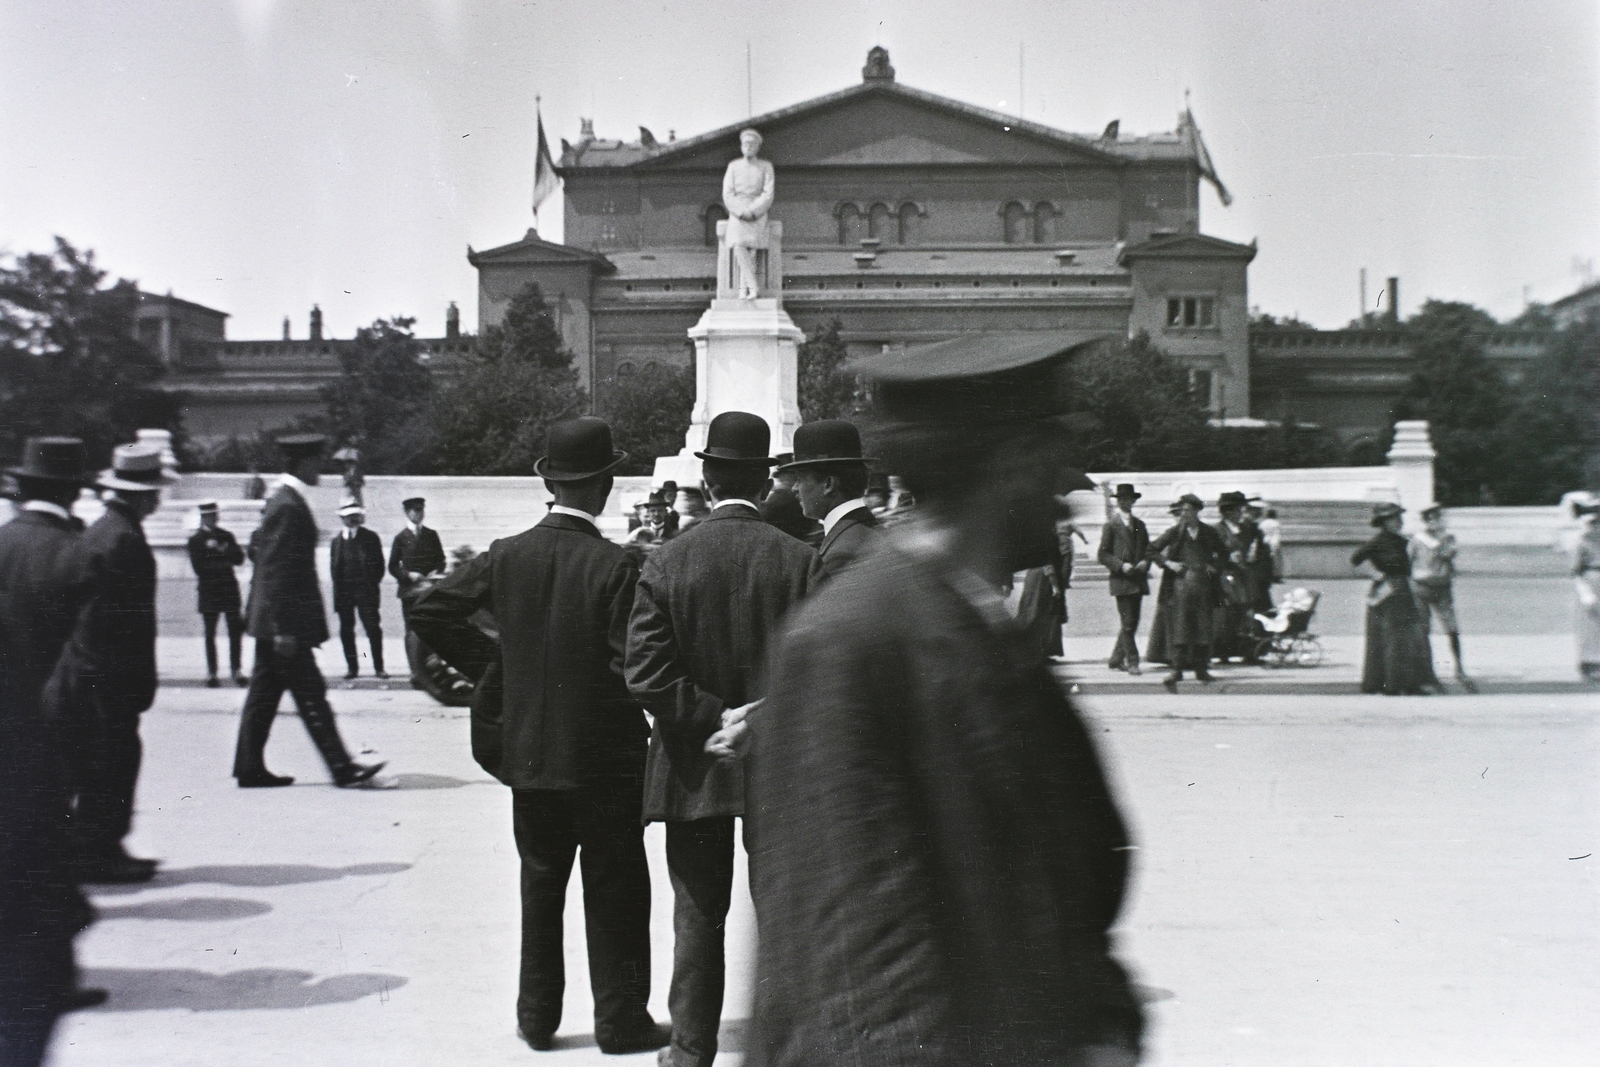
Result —
[[512, 832], [522, 857], [522, 1032], [555, 1033], [566, 990], [562, 917], [578, 856], [584, 880], [589, 987], [595, 1041], [606, 1045], [651, 1025], [650, 864], [638, 821], [637, 776], [576, 790], [512, 790]]

